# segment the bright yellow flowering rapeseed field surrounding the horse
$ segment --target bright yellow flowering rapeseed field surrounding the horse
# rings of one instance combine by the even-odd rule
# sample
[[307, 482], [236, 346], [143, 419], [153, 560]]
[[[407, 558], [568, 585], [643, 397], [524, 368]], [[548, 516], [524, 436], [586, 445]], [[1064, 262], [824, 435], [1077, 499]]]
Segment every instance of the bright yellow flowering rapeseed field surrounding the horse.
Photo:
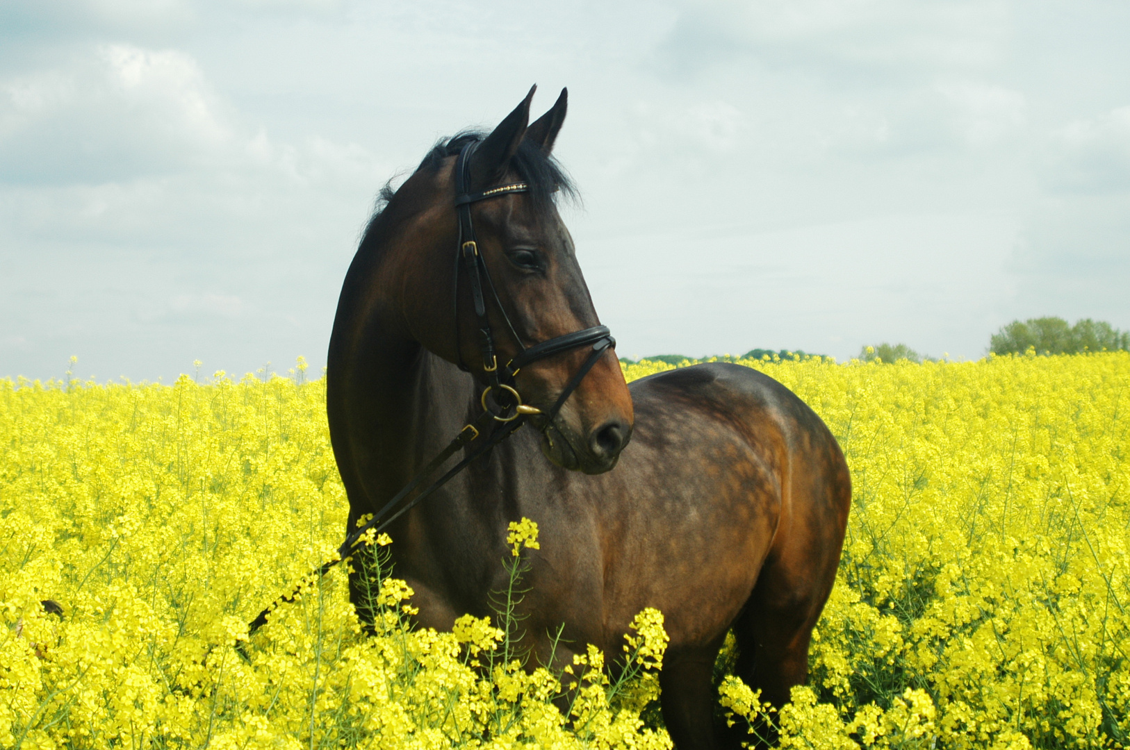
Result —
[[[854, 505], [809, 684], [767, 710], [724, 652], [729, 721], [792, 748], [1130, 744], [1130, 355], [741, 364], [824, 418]], [[670, 747], [641, 718], [653, 610], [627, 654], [528, 674], [505, 604], [412, 630], [388, 578], [370, 637], [339, 566], [244, 643], [342, 538], [324, 381], [303, 369], [0, 381], [0, 747]], [[513, 582], [536, 521], [511, 529]], [[586, 670], [606, 657], [625, 679]]]

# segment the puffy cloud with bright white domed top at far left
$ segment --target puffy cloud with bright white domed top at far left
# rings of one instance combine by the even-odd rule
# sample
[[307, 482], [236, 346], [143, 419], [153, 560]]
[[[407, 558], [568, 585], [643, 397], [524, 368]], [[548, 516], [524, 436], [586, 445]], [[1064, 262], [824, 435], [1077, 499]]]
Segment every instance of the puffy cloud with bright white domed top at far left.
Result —
[[183, 169], [231, 142], [221, 108], [189, 55], [104, 46], [0, 84], [0, 180], [58, 184]]

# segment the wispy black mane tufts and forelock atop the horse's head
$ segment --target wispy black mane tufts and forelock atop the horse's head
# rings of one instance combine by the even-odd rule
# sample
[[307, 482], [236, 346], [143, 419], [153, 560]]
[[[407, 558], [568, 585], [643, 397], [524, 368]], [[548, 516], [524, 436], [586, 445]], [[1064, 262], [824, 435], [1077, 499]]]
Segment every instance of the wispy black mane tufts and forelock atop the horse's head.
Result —
[[[435, 172], [449, 156], [458, 156], [467, 143], [481, 141], [487, 133], [480, 130], [464, 130], [455, 133], [451, 138], [441, 138], [427, 152], [416, 172], [428, 169]], [[565, 168], [554, 158], [553, 154], [546, 154], [540, 146], [523, 139], [518, 146], [518, 152], [510, 160], [511, 168], [529, 186], [530, 202], [534, 212], [542, 215], [554, 206], [558, 194], [563, 194], [571, 200], [576, 200], [576, 188], [572, 178], [566, 174]], [[416, 174], [414, 172], [412, 174]], [[393, 177], [392, 180], [395, 180]], [[395, 197], [397, 191], [392, 189], [392, 180], [384, 183], [376, 194], [376, 206], [370, 217], [365, 234], [368, 235], [374, 225], [380, 220], [389, 202]]]

